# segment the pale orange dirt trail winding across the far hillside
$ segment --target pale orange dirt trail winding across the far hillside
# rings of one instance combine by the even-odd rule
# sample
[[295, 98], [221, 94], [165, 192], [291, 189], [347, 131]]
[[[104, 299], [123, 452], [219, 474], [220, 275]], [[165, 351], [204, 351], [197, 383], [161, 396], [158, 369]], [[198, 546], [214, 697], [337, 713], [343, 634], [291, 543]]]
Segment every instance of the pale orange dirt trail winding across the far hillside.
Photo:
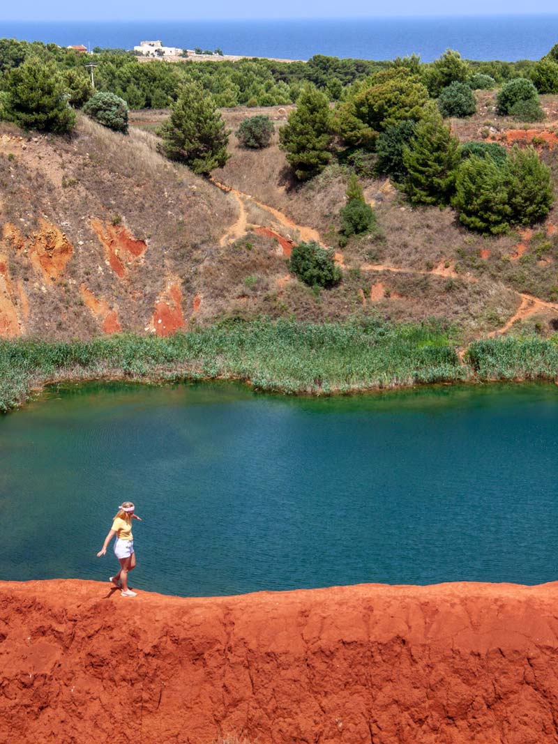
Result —
[[[228, 228], [228, 230], [219, 241], [219, 245], [222, 248], [228, 245], [228, 243], [233, 243], [234, 240], [239, 240], [241, 237], [243, 237], [244, 234], [246, 234], [246, 231], [248, 231], [248, 229], [253, 229], [257, 232], [260, 232], [260, 234], [266, 234], [269, 237], [275, 237], [283, 248], [283, 254], [286, 257], [290, 255], [290, 251], [288, 248], [286, 248], [285, 243], [293, 243], [291, 234], [289, 233], [286, 237], [284, 237], [278, 232], [272, 230], [272, 228], [269, 228], [267, 225], [253, 225], [249, 223], [248, 216], [246, 214], [247, 201], [268, 212], [283, 228], [286, 228], [289, 231], [296, 231], [301, 241], [315, 240], [315, 242], [318, 243], [320, 246], [326, 247], [326, 244], [323, 240], [321, 240], [321, 236], [319, 232], [315, 230], [315, 228], [311, 228], [308, 225], [298, 225], [296, 222], [294, 222], [294, 220], [290, 219], [290, 217], [287, 217], [286, 214], [283, 214], [283, 212], [275, 209], [275, 207], [270, 207], [269, 205], [263, 204], [263, 202], [258, 202], [257, 199], [253, 199], [249, 194], [243, 193], [242, 191], [239, 191], [232, 186], [220, 183], [214, 178], [210, 177], [209, 180], [220, 190], [224, 191], [225, 193], [230, 193], [231, 196], [234, 197], [238, 205], [237, 221]], [[344, 267], [344, 257], [342, 253], [336, 253], [335, 260], [336, 263], [339, 264], [339, 266]], [[455, 261], [446, 260], [441, 260], [432, 269], [409, 269], [404, 266], [391, 266], [387, 263], [362, 263], [361, 266], [359, 266], [359, 269], [362, 272], [391, 272], [393, 274], [414, 274], [423, 276], [459, 278], [470, 284], [474, 284], [478, 281], [476, 277], [468, 273], [458, 274], [458, 272], [455, 271]], [[284, 285], [284, 283], [286, 283], [285, 280], [286, 278], [284, 277], [281, 279], [282, 286]], [[512, 288], [508, 287], [507, 289]], [[526, 318], [530, 318], [530, 316], [534, 315], [536, 312], [551, 310], [558, 313], [558, 303], [548, 302], [538, 297], [534, 297], [533, 295], [527, 295], [525, 292], [517, 292], [516, 289], [512, 289], [512, 291], [516, 293], [518, 298], [521, 298], [519, 308], [516, 310], [514, 315], [508, 318], [503, 326], [488, 333], [488, 338], [494, 338], [495, 336], [501, 336], [503, 333], [507, 333], [507, 331], [510, 330], [514, 323], [516, 323], [517, 321], [525, 320]]]

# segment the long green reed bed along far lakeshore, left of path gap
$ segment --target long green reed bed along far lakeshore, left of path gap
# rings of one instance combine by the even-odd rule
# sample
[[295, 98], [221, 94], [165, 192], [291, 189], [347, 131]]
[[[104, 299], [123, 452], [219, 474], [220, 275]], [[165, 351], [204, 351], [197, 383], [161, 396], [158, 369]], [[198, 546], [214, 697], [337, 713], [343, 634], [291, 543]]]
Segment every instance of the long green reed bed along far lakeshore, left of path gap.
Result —
[[467, 377], [452, 329], [376, 319], [339, 324], [233, 321], [160, 339], [1, 341], [0, 411], [63, 379], [246, 379], [286, 393], [350, 392]]

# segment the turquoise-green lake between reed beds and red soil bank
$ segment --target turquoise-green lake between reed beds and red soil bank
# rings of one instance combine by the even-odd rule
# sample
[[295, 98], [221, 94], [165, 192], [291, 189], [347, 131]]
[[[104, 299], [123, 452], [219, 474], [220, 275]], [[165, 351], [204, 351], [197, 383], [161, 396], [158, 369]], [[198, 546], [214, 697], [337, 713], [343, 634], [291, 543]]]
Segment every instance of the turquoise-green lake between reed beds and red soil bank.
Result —
[[558, 577], [558, 388], [306, 399], [241, 385], [52, 388], [0, 417], [0, 577], [236, 594]]

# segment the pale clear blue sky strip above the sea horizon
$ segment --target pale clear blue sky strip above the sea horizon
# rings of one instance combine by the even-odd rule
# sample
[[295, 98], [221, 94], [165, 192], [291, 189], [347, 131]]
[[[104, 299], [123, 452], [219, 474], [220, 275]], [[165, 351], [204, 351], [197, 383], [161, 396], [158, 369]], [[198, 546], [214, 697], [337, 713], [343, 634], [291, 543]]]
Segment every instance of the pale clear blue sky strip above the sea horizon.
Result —
[[557, 13], [556, 0], [4, 0], [2, 20], [189, 20], [229, 18], [327, 18], [346, 16], [462, 16]]

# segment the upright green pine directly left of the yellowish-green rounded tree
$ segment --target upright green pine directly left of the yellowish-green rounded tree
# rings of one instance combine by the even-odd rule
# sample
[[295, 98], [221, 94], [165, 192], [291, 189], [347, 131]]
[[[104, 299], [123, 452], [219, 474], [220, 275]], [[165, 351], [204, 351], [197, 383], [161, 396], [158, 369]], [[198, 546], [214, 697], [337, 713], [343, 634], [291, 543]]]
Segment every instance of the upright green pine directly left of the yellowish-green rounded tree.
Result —
[[331, 161], [332, 118], [327, 97], [308, 86], [279, 130], [280, 147], [295, 176], [305, 181], [317, 176]]

